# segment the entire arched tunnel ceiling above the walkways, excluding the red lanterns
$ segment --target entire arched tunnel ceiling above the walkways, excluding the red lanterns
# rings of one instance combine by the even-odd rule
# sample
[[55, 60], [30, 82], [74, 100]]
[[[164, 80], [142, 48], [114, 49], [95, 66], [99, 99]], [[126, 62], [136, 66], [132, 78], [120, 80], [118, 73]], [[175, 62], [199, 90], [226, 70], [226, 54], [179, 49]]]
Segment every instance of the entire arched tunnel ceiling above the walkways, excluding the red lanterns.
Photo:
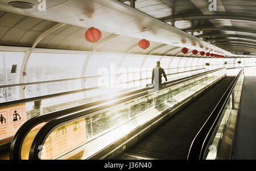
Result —
[[[179, 56], [184, 46], [199, 51], [210, 47], [228, 56], [256, 54], [255, 1], [217, 0], [217, 11], [209, 11], [210, 2], [205, 0], [120, 1], [53, 0], [46, 1], [46, 11], [15, 9], [8, 5], [11, 1], [1, 1], [0, 44], [31, 47], [40, 34], [63, 22], [67, 24], [36, 47], [90, 51], [92, 44], [85, 41], [84, 33], [93, 25], [102, 30], [97, 51], [142, 53], [133, 47], [148, 37], [147, 53], [152, 55]], [[133, 4], [135, 11], [129, 6]]]

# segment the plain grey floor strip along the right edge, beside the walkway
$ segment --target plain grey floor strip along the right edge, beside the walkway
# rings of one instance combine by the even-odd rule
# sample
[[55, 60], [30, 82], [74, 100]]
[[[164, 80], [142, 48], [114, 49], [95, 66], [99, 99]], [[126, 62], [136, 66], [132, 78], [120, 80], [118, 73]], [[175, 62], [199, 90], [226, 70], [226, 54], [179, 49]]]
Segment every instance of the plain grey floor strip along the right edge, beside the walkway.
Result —
[[256, 159], [256, 77], [245, 77], [233, 159]]

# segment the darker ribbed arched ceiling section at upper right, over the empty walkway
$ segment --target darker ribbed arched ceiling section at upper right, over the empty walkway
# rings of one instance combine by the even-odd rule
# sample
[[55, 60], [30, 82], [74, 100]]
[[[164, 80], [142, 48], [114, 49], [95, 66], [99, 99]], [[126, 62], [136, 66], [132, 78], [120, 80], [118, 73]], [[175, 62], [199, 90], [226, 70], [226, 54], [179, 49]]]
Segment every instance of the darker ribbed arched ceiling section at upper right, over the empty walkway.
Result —
[[[210, 11], [211, 2], [204, 0], [155, 0], [151, 3], [137, 0], [135, 7], [164, 22], [171, 22], [174, 26], [179, 21], [178, 27], [185, 32], [194, 32], [192, 34], [195, 35], [196, 32], [203, 31], [203, 34], [196, 37], [201, 37], [209, 43], [221, 39], [233, 48], [233, 39], [256, 40], [255, 0], [216, 0], [216, 2], [216, 11]], [[184, 26], [188, 25], [188, 21], [191, 24], [182, 28], [181, 21], [186, 22]], [[230, 48], [220, 47], [234, 52]], [[255, 44], [253, 47], [255, 48]], [[237, 51], [255, 54], [254, 49], [240, 48]]]

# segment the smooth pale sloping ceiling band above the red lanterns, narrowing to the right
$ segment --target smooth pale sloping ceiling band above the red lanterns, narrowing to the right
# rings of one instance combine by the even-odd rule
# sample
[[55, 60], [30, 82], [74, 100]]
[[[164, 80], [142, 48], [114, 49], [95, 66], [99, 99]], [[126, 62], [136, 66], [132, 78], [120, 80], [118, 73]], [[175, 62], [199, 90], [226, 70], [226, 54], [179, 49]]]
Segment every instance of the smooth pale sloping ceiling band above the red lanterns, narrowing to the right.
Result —
[[[188, 47], [191, 49], [195, 48], [198, 51], [205, 50], [204, 48], [199, 47], [199, 45], [203, 45], [204, 47], [213, 49], [213, 51], [218, 51], [225, 55], [232, 55], [228, 51], [224, 51], [223, 49], [209, 44], [206, 41], [191, 36], [177, 28], [171, 27], [158, 19], [155, 19], [137, 9], [133, 9], [132, 7], [129, 7], [117, 0], [52, 0], [51, 3], [52, 6], [49, 4], [46, 12], [21, 11], [2, 4], [0, 9], [3, 10], [3, 7], [5, 7], [5, 10], [10, 12], [52, 20], [59, 23], [67, 23], [73, 26], [86, 28], [95, 26], [100, 30], [109, 33], [134, 37], [137, 39], [146, 38], [150, 41], [155, 41], [156, 43]], [[80, 21], [79, 19], [84, 20]], [[183, 43], [181, 43], [181, 40]], [[195, 47], [192, 43], [196, 44]]]

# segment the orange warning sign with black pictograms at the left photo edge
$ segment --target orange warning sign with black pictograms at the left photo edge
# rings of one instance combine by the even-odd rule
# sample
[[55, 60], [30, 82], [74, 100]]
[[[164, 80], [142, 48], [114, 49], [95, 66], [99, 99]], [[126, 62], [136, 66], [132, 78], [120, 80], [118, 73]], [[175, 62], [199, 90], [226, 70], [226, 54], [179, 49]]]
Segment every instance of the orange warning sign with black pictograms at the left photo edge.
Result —
[[26, 105], [15, 105], [0, 109], [0, 139], [14, 136], [27, 120]]

